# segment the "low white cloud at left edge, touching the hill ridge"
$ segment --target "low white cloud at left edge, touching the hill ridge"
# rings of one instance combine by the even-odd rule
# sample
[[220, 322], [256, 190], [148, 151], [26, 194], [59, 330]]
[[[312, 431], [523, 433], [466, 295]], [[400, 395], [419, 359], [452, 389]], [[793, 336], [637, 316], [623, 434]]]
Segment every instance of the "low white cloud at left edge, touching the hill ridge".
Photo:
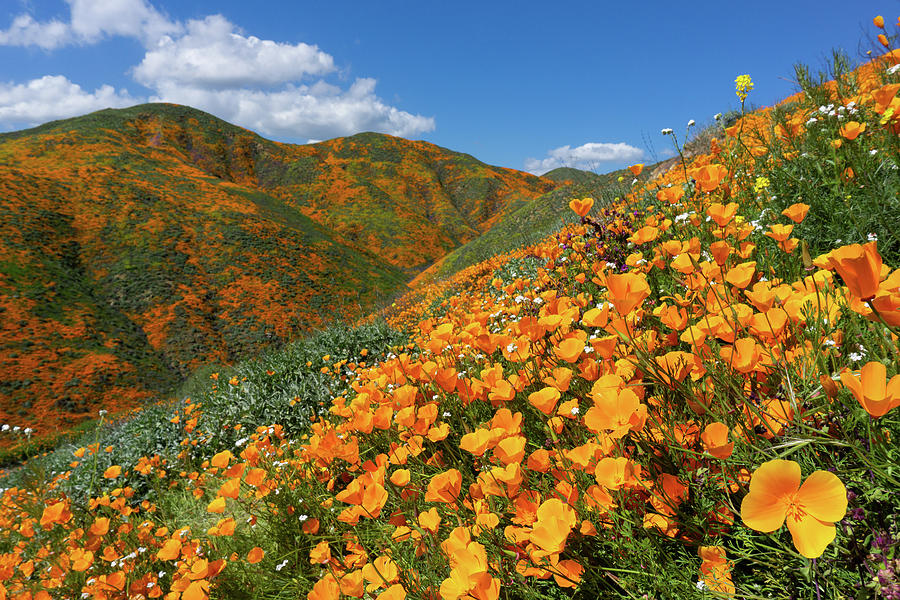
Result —
[[62, 75], [45, 75], [27, 83], [0, 83], [0, 123], [36, 125], [141, 101], [110, 85], [87, 92]]

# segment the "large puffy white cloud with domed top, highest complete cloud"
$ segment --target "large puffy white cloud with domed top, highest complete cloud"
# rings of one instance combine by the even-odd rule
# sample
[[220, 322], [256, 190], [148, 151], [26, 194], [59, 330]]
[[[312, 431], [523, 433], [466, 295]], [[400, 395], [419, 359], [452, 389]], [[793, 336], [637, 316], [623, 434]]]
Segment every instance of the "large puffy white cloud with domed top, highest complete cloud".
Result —
[[159, 89], [272, 86], [334, 71], [334, 59], [308, 44], [245, 37], [221, 15], [187, 24], [180, 37], [161, 38], [134, 69], [137, 81]]

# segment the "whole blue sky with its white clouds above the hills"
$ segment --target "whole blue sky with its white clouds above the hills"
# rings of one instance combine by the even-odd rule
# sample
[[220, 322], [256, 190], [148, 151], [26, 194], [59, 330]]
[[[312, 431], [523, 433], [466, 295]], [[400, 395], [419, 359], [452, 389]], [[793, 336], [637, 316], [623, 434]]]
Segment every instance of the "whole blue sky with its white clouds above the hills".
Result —
[[271, 139], [359, 131], [490, 164], [605, 172], [670, 152], [662, 128], [796, 91], [793, 65], [862, 60], [900, 1], [4, 0], [0, 131], [146, 101]]

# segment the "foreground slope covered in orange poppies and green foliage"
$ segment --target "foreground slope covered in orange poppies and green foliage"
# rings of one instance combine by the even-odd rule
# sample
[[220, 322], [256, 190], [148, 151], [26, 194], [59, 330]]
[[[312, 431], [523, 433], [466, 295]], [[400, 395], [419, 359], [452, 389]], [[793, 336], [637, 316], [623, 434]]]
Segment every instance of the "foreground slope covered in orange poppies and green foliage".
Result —
[[539, 243], [29, 461], [0, 600], [900, 598], [875, 26]]

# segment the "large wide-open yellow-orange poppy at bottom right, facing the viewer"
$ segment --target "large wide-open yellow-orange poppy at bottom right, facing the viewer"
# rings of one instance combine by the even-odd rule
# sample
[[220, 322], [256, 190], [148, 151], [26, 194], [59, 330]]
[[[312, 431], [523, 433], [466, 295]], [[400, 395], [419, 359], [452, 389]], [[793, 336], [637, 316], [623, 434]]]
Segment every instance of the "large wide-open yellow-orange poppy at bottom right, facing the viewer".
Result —
[[741, 502], [744, 524], [771, 533], [787, 521], [794, 546], [806, 558], [818, 558], [836, 535], [834, 523], [847, 512], [847, 488], [828, 471], [816, 471], [800, 485], [800, 465], [770, 460], [750, 478]]

